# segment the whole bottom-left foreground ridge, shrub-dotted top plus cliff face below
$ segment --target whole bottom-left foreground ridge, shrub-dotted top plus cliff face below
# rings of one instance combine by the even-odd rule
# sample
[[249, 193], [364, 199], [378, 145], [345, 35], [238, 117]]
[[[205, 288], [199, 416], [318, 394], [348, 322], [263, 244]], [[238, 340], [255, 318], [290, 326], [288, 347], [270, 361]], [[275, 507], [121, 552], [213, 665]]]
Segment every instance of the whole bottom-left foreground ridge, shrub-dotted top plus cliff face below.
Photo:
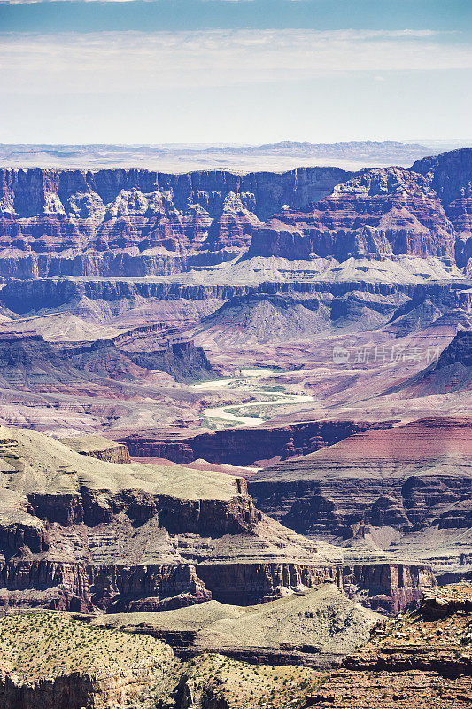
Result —
[[[81, 621], [82, 620], [82, 621]], [[249, 666], [215, 654], [190, 662], [145, 635], [92, 627], [67, 613], [0, 619], [0, 702], [21, 709], [278, 709], [321, 683], [308, 667]]]

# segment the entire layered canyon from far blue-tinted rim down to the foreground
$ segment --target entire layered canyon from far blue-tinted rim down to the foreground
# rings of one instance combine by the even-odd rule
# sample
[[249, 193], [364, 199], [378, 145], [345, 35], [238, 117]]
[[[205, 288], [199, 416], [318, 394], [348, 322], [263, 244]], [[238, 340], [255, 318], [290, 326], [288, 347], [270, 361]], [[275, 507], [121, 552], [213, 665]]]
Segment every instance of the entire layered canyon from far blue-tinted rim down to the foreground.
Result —
[[375, 675], [389, 706], [408, 666], [432, 702], [444, 667], [375, 630], [472, 579], [472, 149], [425, 154], [0, 170], [0, 621], [143, 659], [2, 668], [5, 701], [348, 707]]

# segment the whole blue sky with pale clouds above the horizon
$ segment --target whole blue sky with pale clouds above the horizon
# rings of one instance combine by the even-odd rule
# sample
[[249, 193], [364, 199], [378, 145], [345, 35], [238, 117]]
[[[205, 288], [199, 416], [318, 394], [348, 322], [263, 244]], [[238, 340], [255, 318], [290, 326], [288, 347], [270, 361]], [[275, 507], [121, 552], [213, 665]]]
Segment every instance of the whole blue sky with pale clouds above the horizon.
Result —
[[0, 143], [470, 140], [472, 0], [0, 1]]

